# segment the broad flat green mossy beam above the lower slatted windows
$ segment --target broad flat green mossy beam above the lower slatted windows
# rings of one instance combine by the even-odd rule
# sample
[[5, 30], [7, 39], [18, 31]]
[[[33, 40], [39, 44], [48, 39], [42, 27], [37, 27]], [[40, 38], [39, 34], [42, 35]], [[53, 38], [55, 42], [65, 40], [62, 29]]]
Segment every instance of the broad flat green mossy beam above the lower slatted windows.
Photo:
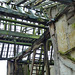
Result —
[[20, 33], [20, 32], [13, 32], [13, 31], [5, 31], [5, 30], [0, 30], [0, 34], [2, 34], [2, 35], [10, 35], [10, 36], [14, 36], [14, 37], [32, 38], [32, 39], [38, 39], [39, 38], [39, 35], [26, 34], [26, 33]]

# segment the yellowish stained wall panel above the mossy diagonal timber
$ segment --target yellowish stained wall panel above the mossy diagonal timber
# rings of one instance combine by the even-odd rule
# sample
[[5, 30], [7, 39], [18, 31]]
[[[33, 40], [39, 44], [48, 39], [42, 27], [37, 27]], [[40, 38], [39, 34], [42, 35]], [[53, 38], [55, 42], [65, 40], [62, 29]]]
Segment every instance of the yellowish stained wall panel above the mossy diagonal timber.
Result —
[[[75, 20], [75, 15], [73, 16]], [[72, 22], [74, 24], [75, 21]], [[75, 28], [72, 24], [68, 25], [66, 15], [63, 15], [58, 22], [56, 22], [56, 34], [58, 42], [58, 50], [66, 52], [75, 47]]]

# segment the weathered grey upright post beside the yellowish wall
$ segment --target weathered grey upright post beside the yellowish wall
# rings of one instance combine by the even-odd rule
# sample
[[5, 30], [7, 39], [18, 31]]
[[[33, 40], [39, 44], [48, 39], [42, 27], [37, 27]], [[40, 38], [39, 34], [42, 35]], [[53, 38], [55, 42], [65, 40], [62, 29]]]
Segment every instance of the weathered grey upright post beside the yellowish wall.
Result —
[[54, 48], [54, 68], [55, 74], [60, 75], [60, 66], [59, 66], [59, 58], [58, 58], [58, 46], [57, 46], [57, 38], [56, 38], [56, 30], [54, 23], [49, 25], [50, 36]]

